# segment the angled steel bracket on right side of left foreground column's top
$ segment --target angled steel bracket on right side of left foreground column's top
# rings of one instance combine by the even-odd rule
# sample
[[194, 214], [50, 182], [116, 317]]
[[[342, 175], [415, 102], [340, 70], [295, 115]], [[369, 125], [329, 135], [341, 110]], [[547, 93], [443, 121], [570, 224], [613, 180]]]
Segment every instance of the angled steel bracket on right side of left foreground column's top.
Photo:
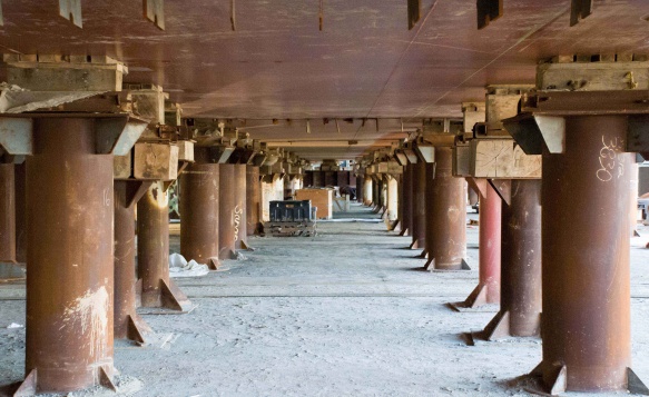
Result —
[[140, 138], [148, 121], [125, 116], [120, 118], [98, 118], [96, 150], [98, 155], [126, 156]]

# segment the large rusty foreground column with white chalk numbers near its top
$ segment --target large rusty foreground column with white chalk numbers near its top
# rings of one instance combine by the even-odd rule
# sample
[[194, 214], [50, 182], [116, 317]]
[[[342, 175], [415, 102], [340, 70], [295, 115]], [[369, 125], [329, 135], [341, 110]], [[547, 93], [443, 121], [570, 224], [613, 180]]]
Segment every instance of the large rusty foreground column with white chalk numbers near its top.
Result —
[[[555, 389], [627, 389], [631, 365], [627, 117], [566, 118], [543, 151], [543, 360]], [[562, 387], [561, 387], [562, 388]]]

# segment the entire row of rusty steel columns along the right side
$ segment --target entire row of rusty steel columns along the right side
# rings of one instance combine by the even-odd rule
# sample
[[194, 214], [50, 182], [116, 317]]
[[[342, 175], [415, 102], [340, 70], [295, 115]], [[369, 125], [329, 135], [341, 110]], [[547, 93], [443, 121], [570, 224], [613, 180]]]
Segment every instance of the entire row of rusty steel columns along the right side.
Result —
[[[628, 214], [637, 166], [616, 145], [627, 131], [626, 116], [568, 117], [564, 151], [543, 149], [542, 182], [470, 180], [480, 192], [480, 280], [464, 304], [500, 304], [475, 336], [541, 335], [543, 359], [532, 374], [551, 393], [649, 393], [630, 369]], [[458, 270], [466, 191], [451, 175], [448, 149], [436, 148], [434, 163], [405, 166], [400, 220], [427, 267]]]

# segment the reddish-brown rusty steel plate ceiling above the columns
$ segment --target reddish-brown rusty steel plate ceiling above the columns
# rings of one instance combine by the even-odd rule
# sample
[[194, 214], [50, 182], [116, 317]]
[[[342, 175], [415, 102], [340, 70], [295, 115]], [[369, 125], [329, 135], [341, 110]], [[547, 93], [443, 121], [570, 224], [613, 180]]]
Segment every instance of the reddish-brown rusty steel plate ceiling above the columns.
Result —
[[314, 160], [390, 145], [422, 118], [460, 117], [486, 85], [533, 83], [541, 59], [649, 53], [646, 0], [596, 0], [574, 27], [569, 0], [505, 0], [483, 30], [475, 0], [422, 0], [412, 30], [406, 0], [322, 2], [319, 31], [317, 0], [236, 0], [233, 31], [230, 0], [166, 0], [163, 31], [141, 1], [82, 1], [82, 29], [58, 1], [4, 1], [0, 47], [114, 57], [126, 81], [163, 86], [185, 117], [238, 120]]

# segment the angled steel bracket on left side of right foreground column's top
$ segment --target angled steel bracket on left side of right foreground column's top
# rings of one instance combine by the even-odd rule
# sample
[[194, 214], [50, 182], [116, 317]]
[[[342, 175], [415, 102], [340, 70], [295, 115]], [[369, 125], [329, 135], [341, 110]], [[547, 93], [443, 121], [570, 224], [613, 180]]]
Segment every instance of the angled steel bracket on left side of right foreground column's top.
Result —
[[543, 147], [551, 153], [566, 150], [563, 117], [521, 113], [502, 120], [502, 123], [525, 155], [542, 155]]

